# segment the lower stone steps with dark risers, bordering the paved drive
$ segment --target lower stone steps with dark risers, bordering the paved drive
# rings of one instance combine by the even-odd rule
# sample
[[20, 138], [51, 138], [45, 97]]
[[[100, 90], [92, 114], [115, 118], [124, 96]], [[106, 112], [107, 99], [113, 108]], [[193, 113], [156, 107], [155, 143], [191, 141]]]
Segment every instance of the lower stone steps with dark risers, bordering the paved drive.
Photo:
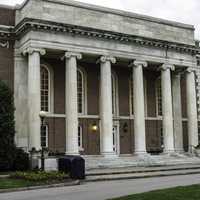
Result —
[[115, 168], [98, 169], [86, 173], [86, 181], [109, 181], [123, 179], [139, 179], [161, 176], [175, 176], [187, 174], [200, 174], [200, 165], [178, 165], [167, 167], [147, 167], [147, 168]]

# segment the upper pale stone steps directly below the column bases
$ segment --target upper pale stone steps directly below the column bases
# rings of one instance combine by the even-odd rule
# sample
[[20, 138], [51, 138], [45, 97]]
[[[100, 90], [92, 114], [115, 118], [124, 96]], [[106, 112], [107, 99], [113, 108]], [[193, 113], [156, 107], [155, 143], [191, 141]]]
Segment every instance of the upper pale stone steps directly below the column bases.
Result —
[[166, 167], [172, 165], [200, 165], [200, 158], [187, 154], [172, 155], [146, 155], [146, 156], [127, 156], [127, 157], [84, 157], [86, 161], [86, 171], [95, 169], [114, 169], [114, 168], [141, 168], [141, 167]]

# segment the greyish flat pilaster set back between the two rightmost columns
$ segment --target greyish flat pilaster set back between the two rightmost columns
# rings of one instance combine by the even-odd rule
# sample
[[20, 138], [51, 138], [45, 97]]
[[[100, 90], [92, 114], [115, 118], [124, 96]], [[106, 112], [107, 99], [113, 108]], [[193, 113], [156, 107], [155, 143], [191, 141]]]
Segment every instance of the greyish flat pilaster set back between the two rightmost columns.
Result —
[[183, 125], [181, 107], [181, 75], [174, 73], [172, 76], [173, 113], [174, 113], [174, 146], [178, 153], [183, 150]]

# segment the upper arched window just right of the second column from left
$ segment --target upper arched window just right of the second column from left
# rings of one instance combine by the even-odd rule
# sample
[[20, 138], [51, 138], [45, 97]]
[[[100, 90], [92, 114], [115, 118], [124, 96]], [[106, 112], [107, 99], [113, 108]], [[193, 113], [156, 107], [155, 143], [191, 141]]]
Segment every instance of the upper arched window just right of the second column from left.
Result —
[[77, 101], [78, 113], [86, 114], [86, 77], [81, 68], [77, 70]]

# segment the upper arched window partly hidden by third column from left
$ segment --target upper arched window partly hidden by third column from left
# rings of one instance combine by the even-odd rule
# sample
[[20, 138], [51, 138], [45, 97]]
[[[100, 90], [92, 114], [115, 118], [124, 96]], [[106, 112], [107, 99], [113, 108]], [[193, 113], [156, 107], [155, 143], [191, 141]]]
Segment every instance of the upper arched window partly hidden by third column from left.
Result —
[[117, 75], [112, 72], [112, 114], [114, 116], [118, 115], [118, 85], [117, 85]]

